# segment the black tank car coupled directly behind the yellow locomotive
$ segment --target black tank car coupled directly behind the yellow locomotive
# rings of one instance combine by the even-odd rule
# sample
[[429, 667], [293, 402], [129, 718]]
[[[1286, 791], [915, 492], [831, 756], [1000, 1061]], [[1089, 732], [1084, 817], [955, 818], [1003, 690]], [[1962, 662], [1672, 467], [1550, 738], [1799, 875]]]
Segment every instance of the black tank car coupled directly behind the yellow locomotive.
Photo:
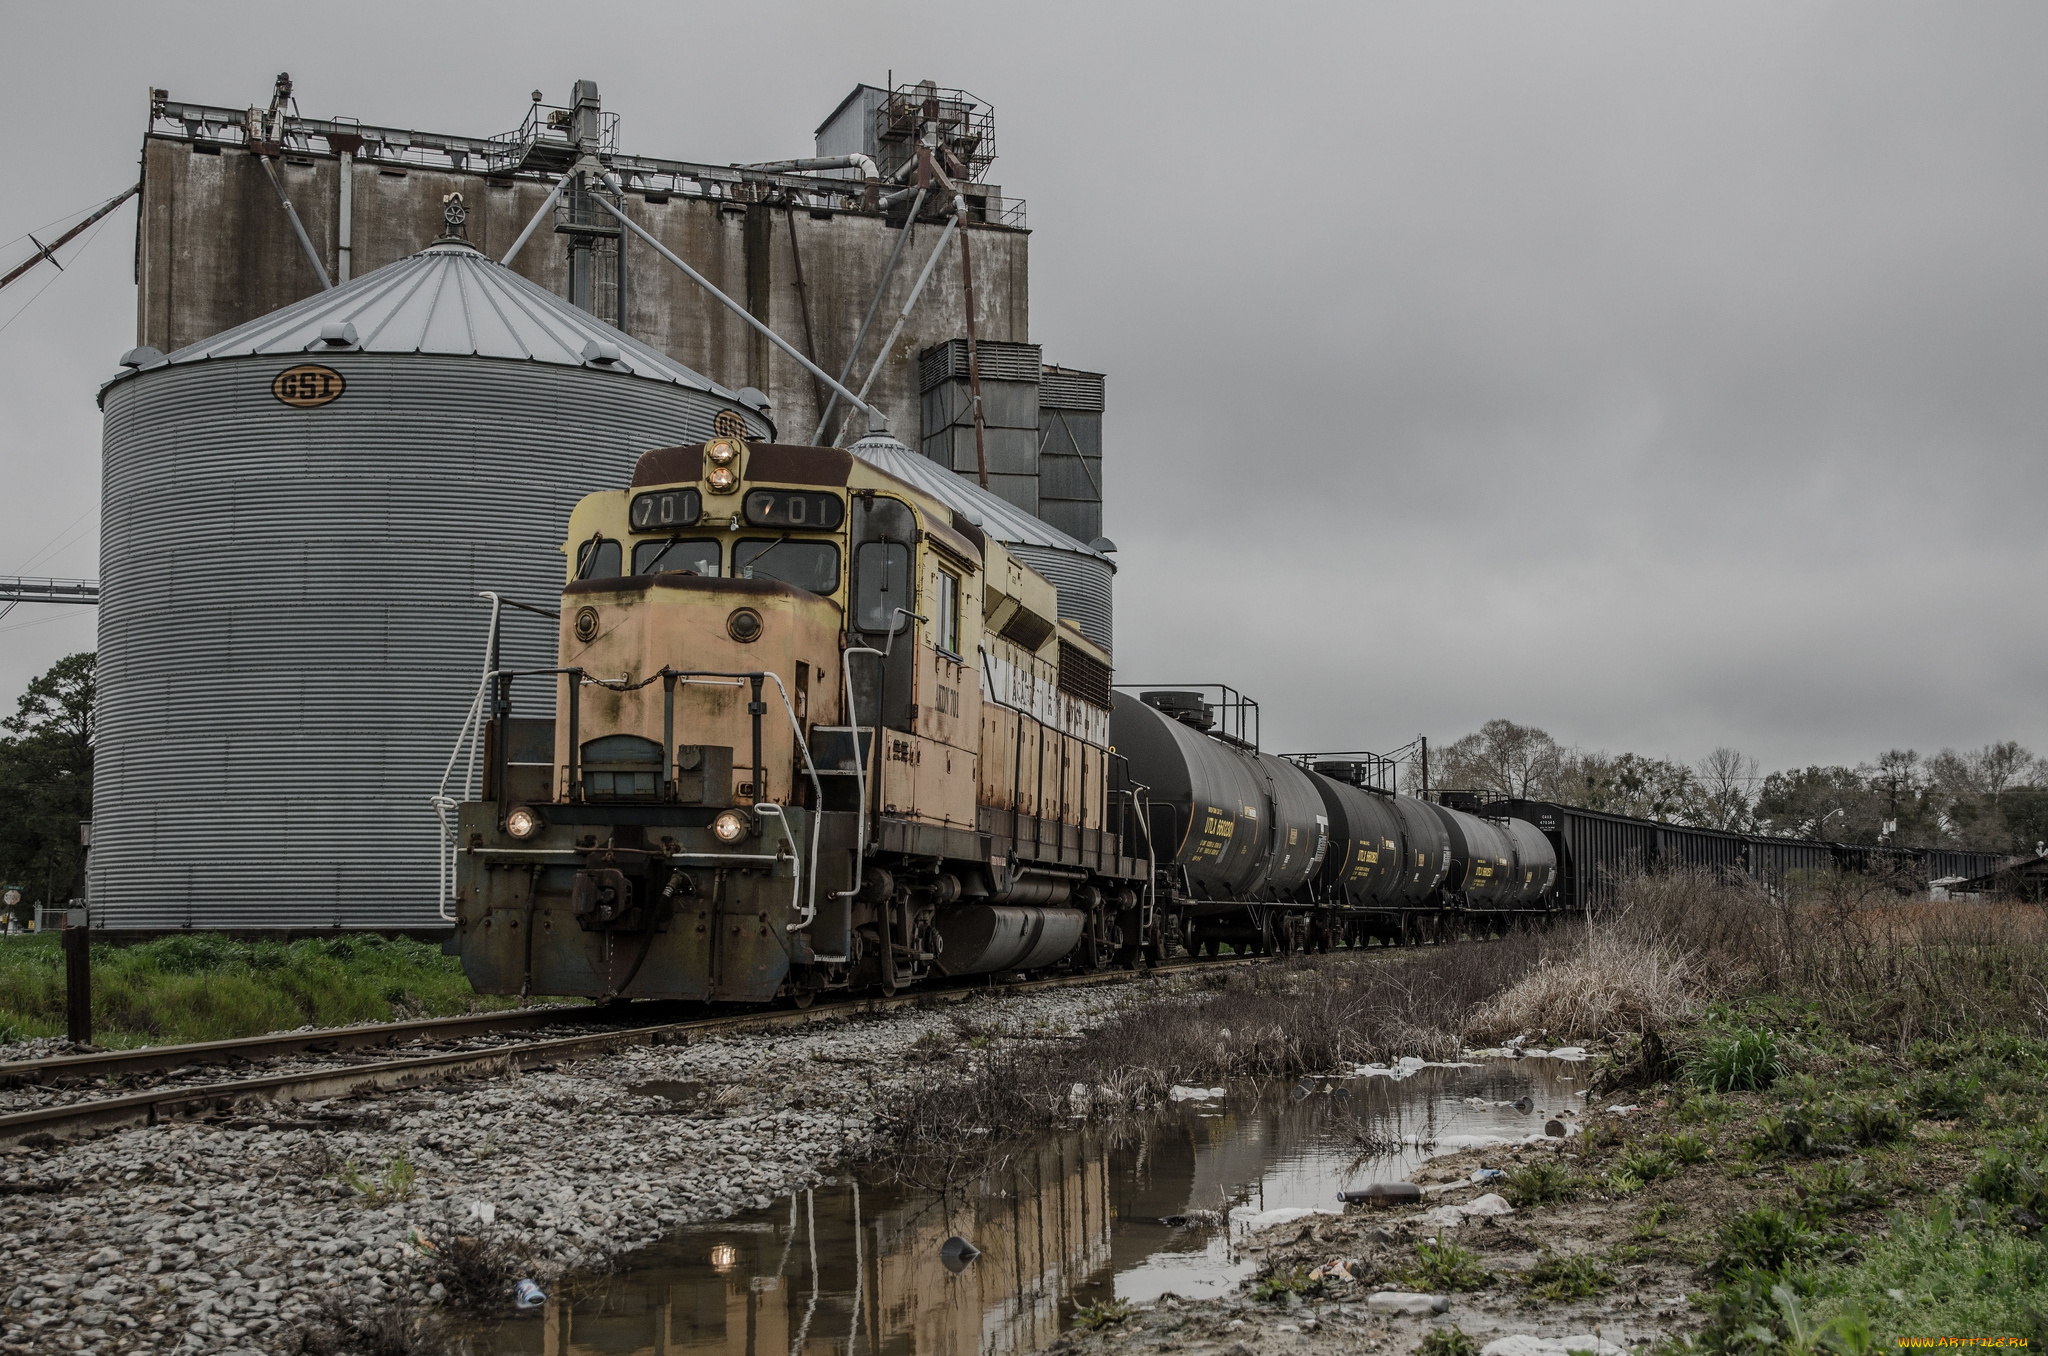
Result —
[[1329, 842], [1329, 813], [1311, 776], [1284, 758], [1204, 733], [1198, 694], [1147, 696], [1182, 715], [1116, 692], [1110, 744], [1130, 762], [1130, 778], [1151, 789], [1159, 866], [1186, 871], [1198, 901], [1260, 903], [1298, 891]]

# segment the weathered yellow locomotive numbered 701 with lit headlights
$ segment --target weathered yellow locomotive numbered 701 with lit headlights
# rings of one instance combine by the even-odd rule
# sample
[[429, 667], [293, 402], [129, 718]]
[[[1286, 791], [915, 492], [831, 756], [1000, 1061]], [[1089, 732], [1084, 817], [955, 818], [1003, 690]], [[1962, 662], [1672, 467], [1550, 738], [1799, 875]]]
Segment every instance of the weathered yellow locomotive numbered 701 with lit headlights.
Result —
[[586, 496], [563, 555], [557, 666], [494, 672], [461, 807], [479, 991], [809, 1002], [1122, 942], [1108, 719], [1042, 701], [1108, 655], [954, 508], [723, 436]]

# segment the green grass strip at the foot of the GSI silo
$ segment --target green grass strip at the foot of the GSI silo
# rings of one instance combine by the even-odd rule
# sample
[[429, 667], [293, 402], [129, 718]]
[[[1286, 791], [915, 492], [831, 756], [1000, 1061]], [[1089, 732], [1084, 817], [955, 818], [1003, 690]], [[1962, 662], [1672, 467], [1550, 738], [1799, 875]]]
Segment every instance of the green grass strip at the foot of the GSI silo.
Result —
[[[461, 961], [408, 938], [236, 942], [195, 932], [92, 946], [92, 1039], [117, 1049], [451, 1016], [516, 1002], [481, 998]], [[63, 1034], [55, 934], [0, 940], [0, 1028], [16, 1041]]]

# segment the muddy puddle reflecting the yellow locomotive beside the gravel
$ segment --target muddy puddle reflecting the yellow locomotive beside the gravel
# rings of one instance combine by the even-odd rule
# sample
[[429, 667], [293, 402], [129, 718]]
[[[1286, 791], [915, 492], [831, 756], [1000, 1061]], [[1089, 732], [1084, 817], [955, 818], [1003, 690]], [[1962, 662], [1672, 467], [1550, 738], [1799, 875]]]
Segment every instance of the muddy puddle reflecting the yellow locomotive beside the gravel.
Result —
[[[1542, 1133], [1548, 1116], [1583, 1110], [1581, 1071], [1550, 1059], [1487, 1059], [1403, 1077], [1231, 1088], [1110, 1129], [1047, 1137], [999, 1182], [950, 1200], [842, 1182], [678, 1229], [582, 1299], [471, 1329], [457, 1350], [1032, 1352], [1077, 1305], [1233, 1290], [1255, 1266], [1237, 1247], [1255, 1213], [1337, 1211], [1339, 1190], [1407, 1178], [1430, 1143], [1446, 1151], [1468, 1137]], [[1520, 1098], [1530, 1110], [1513, 1106]], [[963, 1260], [948, 1239], [981, 1254]]]

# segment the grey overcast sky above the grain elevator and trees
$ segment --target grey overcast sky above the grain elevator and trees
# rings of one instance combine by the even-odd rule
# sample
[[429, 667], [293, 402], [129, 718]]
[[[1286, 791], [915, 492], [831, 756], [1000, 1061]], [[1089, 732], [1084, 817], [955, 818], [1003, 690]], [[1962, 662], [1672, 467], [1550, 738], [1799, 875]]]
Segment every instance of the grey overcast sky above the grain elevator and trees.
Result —
[[[496, 133], [592, 76], [709, 162], [891, 70], [979, 94], [1034, 338], [1110, 375], [1120, 678], [1229, 680], [1268, 748], [2048, 752], [2040, 4], [0, 16], [0, 240], [133, 182], [150, 86]], [[0, 293], [0, 571], [98, 571], [133, 221]], [[90, 645], [0, 619], [0, 705]]]

